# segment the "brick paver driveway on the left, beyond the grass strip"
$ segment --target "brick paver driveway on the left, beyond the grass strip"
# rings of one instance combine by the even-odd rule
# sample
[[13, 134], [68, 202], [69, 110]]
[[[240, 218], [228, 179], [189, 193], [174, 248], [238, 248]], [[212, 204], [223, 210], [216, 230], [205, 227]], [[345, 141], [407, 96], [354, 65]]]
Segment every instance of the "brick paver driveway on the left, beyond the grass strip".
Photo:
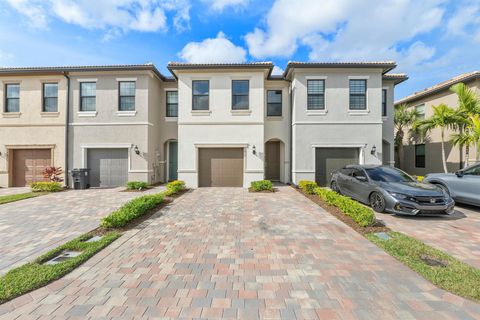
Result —
[[94, 229], [102, 216], [140, 196], [120, 190], [70, 190], [0, 205], [0, 274]]

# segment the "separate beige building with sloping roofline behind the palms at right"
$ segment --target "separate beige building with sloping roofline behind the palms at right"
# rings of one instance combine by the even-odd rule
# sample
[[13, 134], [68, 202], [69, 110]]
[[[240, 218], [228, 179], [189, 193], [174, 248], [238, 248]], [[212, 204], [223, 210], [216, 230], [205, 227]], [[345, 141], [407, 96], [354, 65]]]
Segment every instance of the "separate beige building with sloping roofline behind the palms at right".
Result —
[[[458, 107], [457, 95], [450, 91], [450, 87], [457, 83], [464, 83], [480, 96], [480, 71], [474, 71], [458, 75], [452, 79], [438, 83], [422, 91], [415, 92], [405, 98], [395, 101], [395, 106], [406, 104], [409, 109], [415, 109], [419, 113], [420, 119], [425, 119], [433, 114], [433, 106], [441, 103], [451, 108]], [[453, 146], [450, 136], [453, 133], [451, 129], [445, 131], [445, 155], [447, 168], [449, 172], [455, 172], [463, 168], [466, 160], [465, 148]], [[406, 172], [415, 175], [425, 175], [433, 172], [443, 172], [441, 130], [434, 129], [425, 137], [414, 133], [408, 134], [404, 144], [402, 168]], [[470, 147], [470, 163], [474, 162], [476, 150], [475, 146]], [[398, 159], [398, 154], [395, 157]]]

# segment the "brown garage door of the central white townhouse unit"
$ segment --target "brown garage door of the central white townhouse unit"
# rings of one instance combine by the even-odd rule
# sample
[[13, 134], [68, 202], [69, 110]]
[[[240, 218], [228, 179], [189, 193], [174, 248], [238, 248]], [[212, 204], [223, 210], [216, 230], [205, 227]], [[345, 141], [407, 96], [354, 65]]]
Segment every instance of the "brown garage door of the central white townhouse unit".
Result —
[[243, 149], [199, 149], [199, 187], [243, 187]]

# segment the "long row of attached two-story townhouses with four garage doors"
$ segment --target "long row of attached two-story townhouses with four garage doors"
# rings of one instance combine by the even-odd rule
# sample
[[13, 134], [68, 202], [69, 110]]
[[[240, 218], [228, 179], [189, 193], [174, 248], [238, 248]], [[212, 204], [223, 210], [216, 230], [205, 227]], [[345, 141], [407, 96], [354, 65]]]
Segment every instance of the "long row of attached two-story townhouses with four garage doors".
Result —
[[[349, 163], [393, 165], [394, 62], [3, 68], [0, 186], [45, 166], [93, 187], [270, 179], [326, 185]], [[48, 153], [48, 156], [47, 156]], [[68, 181], [67, 181], [68, 183]]]

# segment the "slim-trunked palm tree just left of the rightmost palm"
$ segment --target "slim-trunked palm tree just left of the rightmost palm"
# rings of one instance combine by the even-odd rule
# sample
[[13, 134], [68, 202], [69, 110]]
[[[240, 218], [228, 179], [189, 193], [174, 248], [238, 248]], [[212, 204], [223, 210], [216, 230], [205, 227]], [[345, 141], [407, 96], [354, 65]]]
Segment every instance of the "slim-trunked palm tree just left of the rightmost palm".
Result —
[[438, 106], [432, 106], [432, 109], [432, 116], [428, 119], [416, 121], [413, 124], [413, 129], [418, 130], [422, 133], [422, 135], [433, 129], [440, 129], [443, 171], [447, 173], [447, 160], [445, 157], [445, 129], [453, 127], [458, 122], [458, 118], [455, 110], [444, 103], [441, 103]]

